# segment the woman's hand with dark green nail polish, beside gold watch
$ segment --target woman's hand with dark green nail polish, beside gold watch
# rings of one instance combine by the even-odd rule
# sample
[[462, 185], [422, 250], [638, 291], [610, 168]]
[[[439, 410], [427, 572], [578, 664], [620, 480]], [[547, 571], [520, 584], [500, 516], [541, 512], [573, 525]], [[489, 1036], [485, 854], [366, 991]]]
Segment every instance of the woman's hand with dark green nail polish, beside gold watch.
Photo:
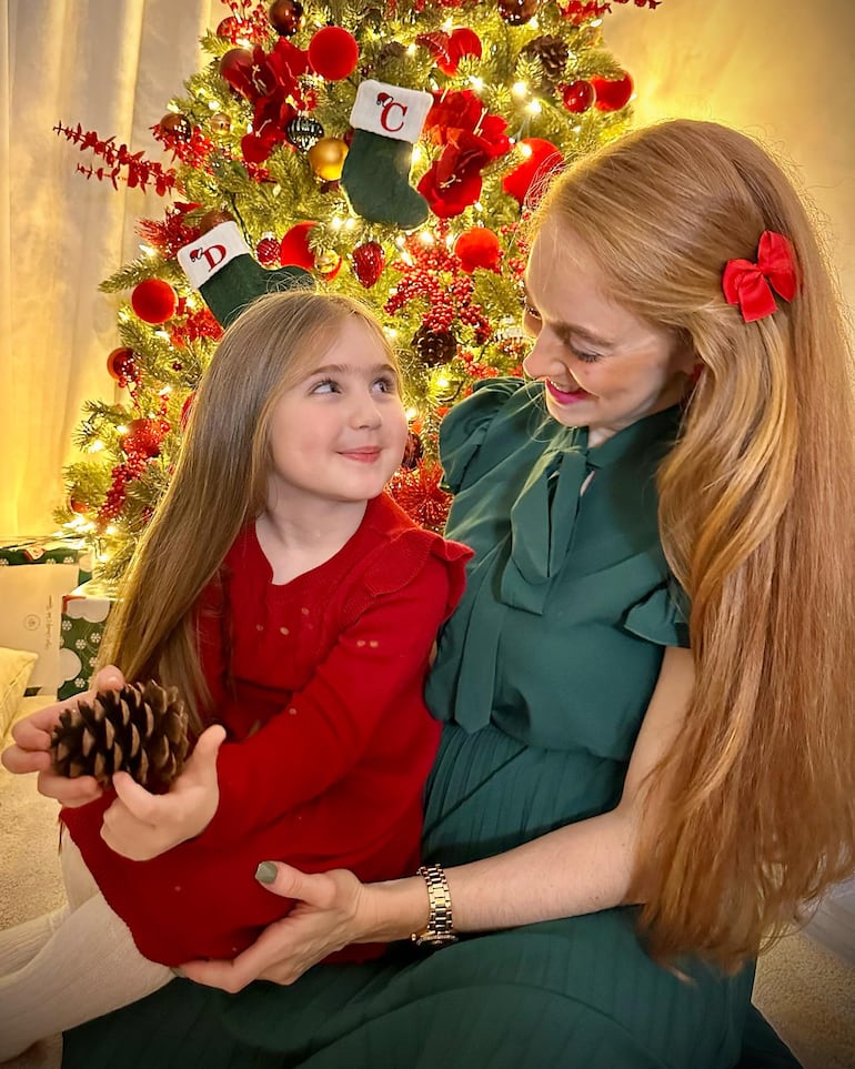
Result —
[[[266, 867], [270, 866], [270, 869]], [[275, 869], [268, 890], [296, 899], [293, 910], [276, 920], [233, 961], [191, 961], [181, 971], [197, 984], [232, 995], [252, 980], [293, 984], [306, 969], [351, 942], [372, 941], [371, 887], [353, 873], [333, 869], [306, 875], [280, 861], [263, 861], [260, 873]]]

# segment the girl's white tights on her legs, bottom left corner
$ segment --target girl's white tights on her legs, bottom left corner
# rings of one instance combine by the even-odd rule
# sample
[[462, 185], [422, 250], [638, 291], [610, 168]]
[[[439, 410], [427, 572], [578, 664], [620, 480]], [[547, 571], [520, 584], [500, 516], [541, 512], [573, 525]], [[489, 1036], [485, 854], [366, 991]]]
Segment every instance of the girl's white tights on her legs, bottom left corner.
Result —
[[0, 931], [0, 1061], [172, 979], [137, 949], [68, 835], [61, 858], [68, 906]]

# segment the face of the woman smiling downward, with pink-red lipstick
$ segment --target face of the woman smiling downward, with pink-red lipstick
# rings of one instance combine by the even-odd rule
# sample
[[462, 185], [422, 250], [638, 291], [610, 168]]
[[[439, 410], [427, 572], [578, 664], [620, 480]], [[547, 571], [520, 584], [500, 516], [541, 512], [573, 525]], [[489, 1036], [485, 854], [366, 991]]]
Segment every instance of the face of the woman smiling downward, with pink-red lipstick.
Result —
[[525, 272], [525, 373], [545, 384], [550, 414], [606, 438], [684, 395], [694, 354], [604, 296], [600, 269], [571, 230], [547, 221]]

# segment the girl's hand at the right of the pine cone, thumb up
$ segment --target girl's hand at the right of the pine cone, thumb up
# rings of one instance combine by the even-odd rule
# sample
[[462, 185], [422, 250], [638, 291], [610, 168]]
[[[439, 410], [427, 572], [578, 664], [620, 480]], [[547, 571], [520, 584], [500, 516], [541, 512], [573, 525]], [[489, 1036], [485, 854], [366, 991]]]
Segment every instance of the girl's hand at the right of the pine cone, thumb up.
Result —
[[110, 849], [133, 861], [148, 861], [201, 835], [220, 804], [217, 755], [224, 738], [220, 725], [203, 732], [165, 795], [153, 795], [128, 773], [117, 773], [113, 787], [118, 797], [101, 826], [101, 838]]

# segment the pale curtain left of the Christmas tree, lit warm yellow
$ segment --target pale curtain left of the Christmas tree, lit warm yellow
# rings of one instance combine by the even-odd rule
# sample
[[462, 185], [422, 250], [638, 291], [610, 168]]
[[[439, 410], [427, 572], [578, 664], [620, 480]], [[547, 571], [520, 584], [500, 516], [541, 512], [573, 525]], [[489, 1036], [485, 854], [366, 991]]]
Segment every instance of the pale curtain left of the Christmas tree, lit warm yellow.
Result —
[[52, 127], [115, 135], [153, 159], [149, 127], [201, 62], [219, 0], [0, 0], [0, 536], [53, 530], [80, 407], [112, 400], [113, 295], [153, 193], [87, 181]]

